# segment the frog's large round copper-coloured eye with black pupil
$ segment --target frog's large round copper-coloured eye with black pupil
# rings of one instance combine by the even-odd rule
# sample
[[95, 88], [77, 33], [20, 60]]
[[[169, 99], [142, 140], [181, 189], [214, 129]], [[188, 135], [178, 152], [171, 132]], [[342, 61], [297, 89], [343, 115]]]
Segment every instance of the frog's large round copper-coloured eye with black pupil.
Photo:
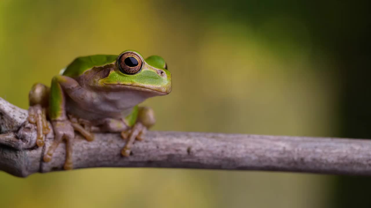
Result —
[[136, 74], [142, 68], [142, 59], [136, 53], [124, 53], [118, 58], [118, 68], [124, 74]]

